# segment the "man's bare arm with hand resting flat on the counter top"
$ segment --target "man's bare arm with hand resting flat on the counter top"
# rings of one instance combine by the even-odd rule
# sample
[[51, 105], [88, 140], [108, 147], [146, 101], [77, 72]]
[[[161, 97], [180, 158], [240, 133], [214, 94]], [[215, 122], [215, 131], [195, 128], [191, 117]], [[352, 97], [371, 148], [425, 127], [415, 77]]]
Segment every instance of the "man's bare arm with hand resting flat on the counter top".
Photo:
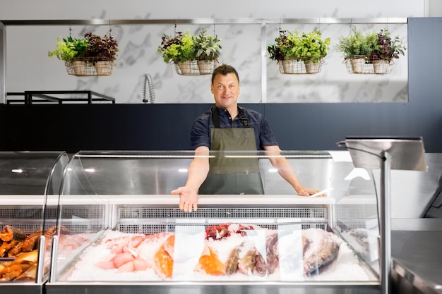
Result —
[[[273, 155], [275, 157], [270, 156], [270, 163], [277, 169], [277, 172], [287, 180], [287, 182], [292, 185], [294, 190], [297, 191], [299, 196], [309, 196], [318, 192], [318, 190], [312, 188], [306, 188], [301, 183], [299, 183], [298, 177], [294, 172], [292, 166], [289, 161], [285, 157], [279, 157], [281, 149], [279, 146], [264, 146], [265, 154]], [[325, 195], [323, 195], [325, 196]]]

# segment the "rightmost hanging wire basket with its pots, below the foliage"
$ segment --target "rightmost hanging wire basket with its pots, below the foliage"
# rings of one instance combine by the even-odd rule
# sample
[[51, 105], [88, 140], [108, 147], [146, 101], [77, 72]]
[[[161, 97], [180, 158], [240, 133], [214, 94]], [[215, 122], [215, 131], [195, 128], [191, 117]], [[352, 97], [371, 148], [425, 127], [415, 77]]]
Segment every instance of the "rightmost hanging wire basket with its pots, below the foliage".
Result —
[[391, 73], [394, 61], [372, 59], [366, 55], [352, 55], [344, 59], [347, 73], [386, 75]]

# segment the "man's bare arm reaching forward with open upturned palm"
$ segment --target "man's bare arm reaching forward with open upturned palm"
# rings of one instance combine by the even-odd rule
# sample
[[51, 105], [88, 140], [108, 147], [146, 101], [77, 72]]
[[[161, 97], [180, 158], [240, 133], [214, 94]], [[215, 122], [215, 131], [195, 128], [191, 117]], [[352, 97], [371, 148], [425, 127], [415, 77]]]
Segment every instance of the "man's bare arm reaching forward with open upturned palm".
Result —
[[209, 149], [198, 147], [195, 149], [195, 157], [189, 164], [186, 185], [173, 190], [172, 195], [179, 195], [179, 209], [191, 212], [198, 208], [198, 189], [203, 184], [209, 172]]

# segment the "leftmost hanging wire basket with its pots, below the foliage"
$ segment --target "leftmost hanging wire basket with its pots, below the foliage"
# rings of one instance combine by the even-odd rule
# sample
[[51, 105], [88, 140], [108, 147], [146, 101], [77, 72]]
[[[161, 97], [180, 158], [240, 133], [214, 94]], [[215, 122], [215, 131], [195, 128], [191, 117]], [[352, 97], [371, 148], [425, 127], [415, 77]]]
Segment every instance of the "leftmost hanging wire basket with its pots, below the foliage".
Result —
[[78, 57], [64, 66], [69, 75], [112, 75], [114, 62], [107, 57]]

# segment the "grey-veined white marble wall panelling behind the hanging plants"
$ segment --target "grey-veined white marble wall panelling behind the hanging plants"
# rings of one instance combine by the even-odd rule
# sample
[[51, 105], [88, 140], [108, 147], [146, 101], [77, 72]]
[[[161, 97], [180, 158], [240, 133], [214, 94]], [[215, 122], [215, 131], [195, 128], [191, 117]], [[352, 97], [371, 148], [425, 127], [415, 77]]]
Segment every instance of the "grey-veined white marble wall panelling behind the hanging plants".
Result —
[[[358, 25], [360, 30], [388, 27], [407, 44], [407, 25]], [[210, 75], [178, 75], [172, 64], [157, 52], [163, 33], [190, 30], [198, 34], [205, 28], [218, 35], [222, 44], [220, 63], [229, 63], [241, 78], [240, 102], [406, 102], [407, 56], [401, 56], [388, 75], [352, 75], [347, 73], [342, 56], [333, 46], [342, 34], [350, 33], [348, 24], [284, 25], [285, 30], [320, 29], [332, 39], [332, 49], [321, 73], [282, 75], [275, 61], [261, 64], [261, 42], [270, 44], [279, 34], [278, 25], [265, 25], [261, 39], [259, 24], [208, 25], [101, 25], [101, 26], [8, 26], [6, 42], [6, 92], [25, 90], [92, 90], [115, 97], [117, 103], [143, 103], [145, 74], [153, 78], [155, 103], [210, 103]], [[86, 32], [112, 33], [119, 42], [116, 67], [108, 77], [67, 75], [64, 62], [50, 59], [56, 37], [83, 37]], [[262, 94], [261, 66], [265, 66], [267, 88]]]

